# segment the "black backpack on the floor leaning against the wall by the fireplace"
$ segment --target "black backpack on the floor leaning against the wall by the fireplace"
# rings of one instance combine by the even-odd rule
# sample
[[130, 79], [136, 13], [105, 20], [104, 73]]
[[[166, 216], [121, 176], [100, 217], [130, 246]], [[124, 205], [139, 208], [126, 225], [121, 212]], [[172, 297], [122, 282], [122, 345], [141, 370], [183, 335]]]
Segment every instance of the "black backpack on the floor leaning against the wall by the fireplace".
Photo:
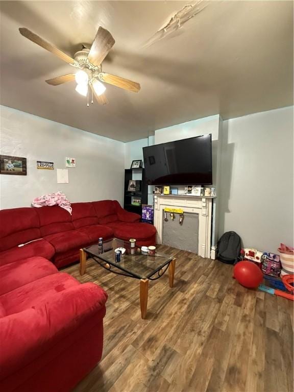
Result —
[[234, 231], [227, 231], [217, 242], [217, 259], [223, 263], [234, 264], [241, 251], [241, 238]]

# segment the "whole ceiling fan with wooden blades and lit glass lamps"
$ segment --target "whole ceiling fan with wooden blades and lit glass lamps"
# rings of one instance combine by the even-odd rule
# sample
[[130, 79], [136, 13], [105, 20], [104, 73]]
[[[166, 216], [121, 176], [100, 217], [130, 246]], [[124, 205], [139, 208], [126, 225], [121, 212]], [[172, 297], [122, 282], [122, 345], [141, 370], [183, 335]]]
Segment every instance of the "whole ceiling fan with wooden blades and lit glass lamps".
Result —
[[[52, 86], [57, 86], [62, 83], [76, 80], [76, 91], [84, 96], [87, 96], [88, 86], [90, 86], [92, 94], [94, 94], [97, 102], [101, 105], [108, 103], [104, 94], [106, 87], [101, 82], [109, 83], [129, 91], [138, 92], [140, 90], [139, 83], [132, 82], [129, 79], [120, 78], [119, 76], [107, 74], [106, 72], [102, 71], [102, 61], [105, 59], [108, 52], [115, 43], [109, 31], [103, 29], [102, 27], [98, 29], [91, 48], [88, 49], [83, 46], [82, 50], [74, 55], [74, 58], [66, 55], [57, 47], [45, 41], [43, 38], [39, 37], [29, 29], [21, 27], [19, 28], [19, 32], [21, 35], [23, 35], [23, 37], [28, 38], [32, 42], [35, 42], [37, 45], [43, 47], [47, 51], [59, 57], [61, 60], [78, 69], [75, 73], [46, 80], [46, 83]], [[89, 106], [89, 102], [87, 106]]]

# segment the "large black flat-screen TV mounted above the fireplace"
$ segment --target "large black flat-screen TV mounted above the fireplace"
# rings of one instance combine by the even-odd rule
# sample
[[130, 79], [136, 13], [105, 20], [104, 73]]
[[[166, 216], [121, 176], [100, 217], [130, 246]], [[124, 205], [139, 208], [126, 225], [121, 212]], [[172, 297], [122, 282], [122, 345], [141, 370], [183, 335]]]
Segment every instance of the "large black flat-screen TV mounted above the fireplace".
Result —
[[212, 184], [211, 135], [143, 147], [148, 185]]

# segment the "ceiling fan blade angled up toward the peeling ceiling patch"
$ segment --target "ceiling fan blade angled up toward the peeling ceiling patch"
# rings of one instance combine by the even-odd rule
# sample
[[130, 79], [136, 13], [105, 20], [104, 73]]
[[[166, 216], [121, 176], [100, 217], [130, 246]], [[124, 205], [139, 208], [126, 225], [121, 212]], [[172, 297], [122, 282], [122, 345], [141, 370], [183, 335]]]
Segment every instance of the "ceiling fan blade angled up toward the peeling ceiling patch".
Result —
[[95, 66], [100, 65], [114, 43], [115, 40], [109, 31], [100, 27], [89, 52], [88, 60], [90, 63]]

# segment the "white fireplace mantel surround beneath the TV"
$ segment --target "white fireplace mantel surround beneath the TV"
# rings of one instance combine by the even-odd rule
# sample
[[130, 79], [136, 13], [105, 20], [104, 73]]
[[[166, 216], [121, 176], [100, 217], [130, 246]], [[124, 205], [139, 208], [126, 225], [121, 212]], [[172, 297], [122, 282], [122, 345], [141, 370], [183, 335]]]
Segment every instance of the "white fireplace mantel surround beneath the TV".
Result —
[[162, 243], [163, 213], [165, 208], [181, 208], [184, 213], [199, 215], [199, 247], [202, 257], [215, 258], [215, 248], [211, 247], [211, 222], [213, 197], [191, 195], [155, 195], [154, 225], [157, 229], [157, 243]]

